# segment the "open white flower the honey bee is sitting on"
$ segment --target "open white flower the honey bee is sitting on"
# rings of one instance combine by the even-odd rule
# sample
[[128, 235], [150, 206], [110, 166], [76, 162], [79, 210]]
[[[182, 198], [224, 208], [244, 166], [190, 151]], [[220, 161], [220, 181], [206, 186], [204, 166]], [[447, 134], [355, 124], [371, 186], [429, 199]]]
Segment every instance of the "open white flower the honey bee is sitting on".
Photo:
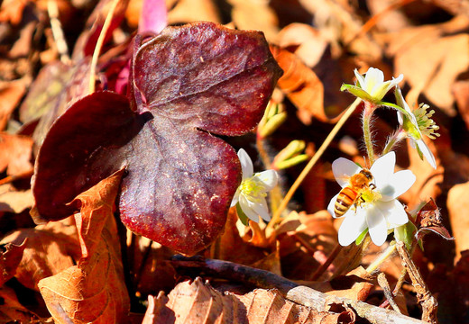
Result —
[[[394, 152], [374, 162], [370, 168], [372, 185], [365, 189], [361, 196], [364, 202], [356, 203], [356, 208], [352, 205], [343, 216], [345, 220], [338, 233], [340, 245], [348, 246], [368, 229], [373, 243], [381, 246], [388, 236], [388, 229], [394, 229], [409, 221], [404, 207], [396, 198], [409, 190], [416, 177], [410, 170], [394, 173], [395, 164]], [[361, 170], [360, 166], [344, 157], [336, 159], [332, 164], [336, 181], [342, 188], [349, 186], [350, 177], [360, 173]], [[338, 193], [327, 206], [327, 211], [333, 217], [336, 217], [334, 206], [337, 196]]]

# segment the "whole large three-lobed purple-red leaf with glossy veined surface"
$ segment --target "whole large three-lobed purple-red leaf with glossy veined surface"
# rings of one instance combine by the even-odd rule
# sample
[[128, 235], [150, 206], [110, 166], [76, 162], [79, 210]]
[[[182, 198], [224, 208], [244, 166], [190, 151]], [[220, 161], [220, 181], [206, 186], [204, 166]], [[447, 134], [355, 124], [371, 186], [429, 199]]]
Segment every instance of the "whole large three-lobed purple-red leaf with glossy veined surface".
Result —
[[186, 254], [207, 247], [241, 180], [234, 148], [212, 134], [253, 129], [280, 74], [260, 32], [165, 29], [133, 60], [136, 112], [118, 94], [97, 93], [52, 126], [37, 160], [37, 211], [67, 216], [75, 195], [126, 166], [124, 224]]

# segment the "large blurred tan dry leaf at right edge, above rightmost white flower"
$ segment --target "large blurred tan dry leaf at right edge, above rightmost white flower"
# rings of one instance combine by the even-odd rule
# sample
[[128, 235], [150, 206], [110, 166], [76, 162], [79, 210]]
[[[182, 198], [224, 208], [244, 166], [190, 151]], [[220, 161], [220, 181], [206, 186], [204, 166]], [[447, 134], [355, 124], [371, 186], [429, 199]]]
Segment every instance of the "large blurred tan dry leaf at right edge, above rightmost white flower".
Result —
[[388, 53], [394, 56], [395, 74], [404, 74], [414, 92], [423, 93], [431, 103], [454, 116], [452, 86], [469, 67], [469, 35], [444, 36], [467, 27], [461, 18], [440, 25], [418, 26], [388, 35]]

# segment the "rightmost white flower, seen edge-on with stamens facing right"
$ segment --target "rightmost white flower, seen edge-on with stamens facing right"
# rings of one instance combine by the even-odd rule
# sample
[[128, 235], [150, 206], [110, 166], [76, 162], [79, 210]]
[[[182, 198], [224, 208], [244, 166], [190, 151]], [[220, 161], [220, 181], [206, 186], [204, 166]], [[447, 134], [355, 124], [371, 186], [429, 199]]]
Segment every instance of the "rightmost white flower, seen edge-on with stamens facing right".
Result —
[[[410, 110], [409, 104], [406, 103], [399, 86], [396, 86], [394, 94], [396, 95], [396, 103], [400, 107], [404, 108], [407, 112], [409, 112], [410, 121], [409, 118], [407, 118], [402, 112], [398, 112], [398, 121], [400, 125], [402, 125], [402, 128], [407, 132], [408, 137], [410, 139], [410, 145], [412, 146], [412, 148], [417, 147], [418, 155], [420, 156], [420, 158], [423, 159], [423, 157], [426, 157], [428, 163], [433, 166], [433, 168], [437, 168], [437, 162], [435, 160], [435, 157], [433, 156], [433, 153], [431, 152], [430, 148], [428, 148], [427, 144], [423, 140], [423, 136], [419, 127], [419, 123], [422, 123], [422, 127], [424, 129], [426, 129], [428, 127], [428, 124], [430, 124], [432, 130], [431, 134], [429, 134], [430, 136], [433, 134], [433, 130], [438, 130], [438, 127], [434, 125], [435, 122], [428, 118], [428, 105], [421, 106], [421, 109], [425, 110], [425, 113], [423, 113], [423, 115], [421, 109], [417, 110], [419, 120], [422, 121], [418, 122], [415, 113]], [[433, 111], [429, 112], [430, 117], [432, 114]]]

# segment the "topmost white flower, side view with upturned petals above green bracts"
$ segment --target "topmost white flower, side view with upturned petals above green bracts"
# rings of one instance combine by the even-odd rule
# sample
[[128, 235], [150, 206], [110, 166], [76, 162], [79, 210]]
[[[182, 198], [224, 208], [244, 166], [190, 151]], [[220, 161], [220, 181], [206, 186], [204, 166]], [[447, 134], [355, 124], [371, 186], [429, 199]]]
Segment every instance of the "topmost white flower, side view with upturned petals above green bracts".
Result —
[[351, 94], [373, 103], [381, 102], [382, 97], [404, 78], [403, 75], [400, 75], [397, 78], [392, 77], [392, 80], [384, 81], [382, 70], [374, 67], [370, 67], [365, 76], [358, 73], [356, 68], [354, 74], [356, 85], [343, 85], [341, 90], [347, 90]]

